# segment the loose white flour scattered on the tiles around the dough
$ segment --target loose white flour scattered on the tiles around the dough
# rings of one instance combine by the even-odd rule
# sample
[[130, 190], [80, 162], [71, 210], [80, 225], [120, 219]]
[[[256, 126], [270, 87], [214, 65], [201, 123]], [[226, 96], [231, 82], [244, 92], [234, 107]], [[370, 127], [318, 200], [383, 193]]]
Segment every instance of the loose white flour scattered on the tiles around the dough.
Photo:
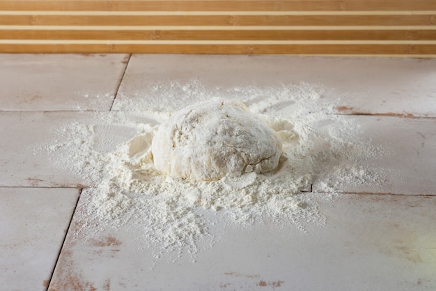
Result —
[[[194, 260], [198, 251], [225, 238], [217, 221], [238, 227], [274, 221], [304, 231], [323, 225], [322, 211], [311, 199], [316, 194], [304, 192], [315, 181], [332, 192], [318, 194], [325, 199], [344, 182], [382, 181], [371, 170], [382, 151], [357, 140], [359, 126], [352, 119], [330, 114], [336, 104], [322, 99], [323, 90], [305, 83], [231, 89], [208, 89], [196, 81], [155, 84], [151, 92], [160, 98], [121, 98], [118, 108], [125, 112], [98, 112], [56, 128], [59, 139], [45, 147], [53, 163], [79, 174], [90, 187], [81, 197], [86, 207], [77, 211], [84, 225], [77, 237], [128, 227], [156, 260], [184, 252]], [[275, 130], [283, 143], [277, 170], [200, 182], [155, 170], [150, 145], [159, 124], [182, 105], [210, 99], [242, 100]]]

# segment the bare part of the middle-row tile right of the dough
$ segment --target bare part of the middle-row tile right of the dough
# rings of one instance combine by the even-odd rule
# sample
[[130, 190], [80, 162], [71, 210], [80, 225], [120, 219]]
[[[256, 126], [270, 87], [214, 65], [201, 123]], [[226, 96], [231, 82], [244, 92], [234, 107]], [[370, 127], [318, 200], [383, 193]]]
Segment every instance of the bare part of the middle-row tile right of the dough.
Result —
[[345, 184], [335, 187], [341, 177], [327, 171], [314, 182], [313, 191], [331, 191], [325, 188], [327, 184], [345, 193], [435, 195], [436, 119], [368, 116], [348, 119], [361, 126], [361, 133], [356, 136], [359, 140], [371, 140], [374, 147], [384, 151], [371, 161], [371, 172], [380, 177], [380, 182], [368, 179], [366, 183], [352, 184], [345, 179]]

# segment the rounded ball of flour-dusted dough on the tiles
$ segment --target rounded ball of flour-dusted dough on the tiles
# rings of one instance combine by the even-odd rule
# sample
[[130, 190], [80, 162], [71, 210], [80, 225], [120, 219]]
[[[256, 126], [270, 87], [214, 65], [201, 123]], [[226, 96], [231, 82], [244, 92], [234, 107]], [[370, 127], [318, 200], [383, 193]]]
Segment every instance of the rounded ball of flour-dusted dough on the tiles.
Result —
[[274, 170], [281, 140], [243, 103], [208, 102], [185, 107], [161, 124], [152, 153], [155, 168], [170, 177], [214, 181]]

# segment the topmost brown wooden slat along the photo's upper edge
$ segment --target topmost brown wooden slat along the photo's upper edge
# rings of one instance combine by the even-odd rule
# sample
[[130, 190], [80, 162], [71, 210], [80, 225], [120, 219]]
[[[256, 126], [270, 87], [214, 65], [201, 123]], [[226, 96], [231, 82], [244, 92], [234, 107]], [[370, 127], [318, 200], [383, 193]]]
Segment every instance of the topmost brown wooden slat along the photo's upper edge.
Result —
[[65, 0], [0, 1], [0, 10], [81, 10], [81, 11], [356, 11], [434, 10], [433, 0], [291, 0], [291, 1], [142, 1]]

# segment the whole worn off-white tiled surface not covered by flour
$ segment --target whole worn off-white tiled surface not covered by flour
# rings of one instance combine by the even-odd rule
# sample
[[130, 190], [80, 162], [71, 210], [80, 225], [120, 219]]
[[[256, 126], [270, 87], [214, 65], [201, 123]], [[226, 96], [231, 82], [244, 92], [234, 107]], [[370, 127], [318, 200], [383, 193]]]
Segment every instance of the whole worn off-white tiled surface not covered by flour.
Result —
[[[84, 181], [32, 149], [61, 137], [53, 129], [63, 124], [95, 125], [98, 112], [77, 110], [109, 110], [126, 57], [0, 54], [0, 227], [7, 233], [0, 238], [1, 291], [47, 289]], [[390, 115], [347, 117], [361, 125], [357, 138], [389, 151], [373, 164], [385, 181], [342, 185], [332, 201], [321, 199], [325, 193], [302, 194], [314, 195], [325, 227], [304, 233], [293, 225], [241, 230], [218, 222], [224, 239], [195, 263], [182, 256], [154, 269], [129, 225], [90, 232], [76, 216], [49, 290], [436, 290], [436, 121], [428, 118], [436, 117], [435, 78], [433, 59], [133, 55], [114, 110], [136, 103], [143, 107], [135, 110], [153, 109], [153, 84], [198, 80], [224, 89], [320, 83], [339, 114]], [[398, 114], [415, 118], [392, 116]], [[104, 133], [113, 136], [95, 140], [105, 150], [132, 134], [109, 127]], [[325, 191], [323, 182], [334, 178], [326, 172], [313, 189]], [[77, 211], [86, 210], [88, 193]]]

